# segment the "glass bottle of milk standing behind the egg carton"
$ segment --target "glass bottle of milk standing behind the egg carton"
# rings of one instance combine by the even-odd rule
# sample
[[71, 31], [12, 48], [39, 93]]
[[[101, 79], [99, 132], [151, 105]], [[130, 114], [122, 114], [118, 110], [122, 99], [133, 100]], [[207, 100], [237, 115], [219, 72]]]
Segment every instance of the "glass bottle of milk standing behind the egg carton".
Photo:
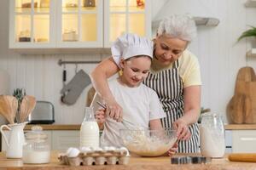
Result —
[[99, 127], [94, 117], [93, 107], [85, 107], [84, 122], [80, 127], [80, 148], [99, 147]]

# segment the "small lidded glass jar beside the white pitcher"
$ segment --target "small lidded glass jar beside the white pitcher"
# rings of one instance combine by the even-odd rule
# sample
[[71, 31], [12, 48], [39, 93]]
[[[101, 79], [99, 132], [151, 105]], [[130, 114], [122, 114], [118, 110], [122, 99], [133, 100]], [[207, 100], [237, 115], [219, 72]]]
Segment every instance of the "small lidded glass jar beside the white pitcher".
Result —
[[32, 131], [25, 134], [25, 139], [22, 161], [24, 163], [49, 163], [50, 147], [43, 128], [40, 126], [32, 127]]

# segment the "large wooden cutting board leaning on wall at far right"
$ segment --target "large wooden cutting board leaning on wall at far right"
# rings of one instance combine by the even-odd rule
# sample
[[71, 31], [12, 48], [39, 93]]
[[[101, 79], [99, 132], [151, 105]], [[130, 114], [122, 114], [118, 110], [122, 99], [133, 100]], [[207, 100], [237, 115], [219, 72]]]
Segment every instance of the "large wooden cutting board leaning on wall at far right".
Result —
[[227, 117], [230, 123], [256, 123], [256, 76], [252, 67], [242, 67], [238, 71]]

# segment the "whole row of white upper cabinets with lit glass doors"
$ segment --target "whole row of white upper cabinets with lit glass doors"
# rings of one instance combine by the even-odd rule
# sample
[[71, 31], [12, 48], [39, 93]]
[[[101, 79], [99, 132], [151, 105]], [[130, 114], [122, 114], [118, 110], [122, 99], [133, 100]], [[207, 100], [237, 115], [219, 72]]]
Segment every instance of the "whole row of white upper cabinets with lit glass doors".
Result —
[[151, 37], [151, 0], [10, 0], [9, 48], [109, 48]]

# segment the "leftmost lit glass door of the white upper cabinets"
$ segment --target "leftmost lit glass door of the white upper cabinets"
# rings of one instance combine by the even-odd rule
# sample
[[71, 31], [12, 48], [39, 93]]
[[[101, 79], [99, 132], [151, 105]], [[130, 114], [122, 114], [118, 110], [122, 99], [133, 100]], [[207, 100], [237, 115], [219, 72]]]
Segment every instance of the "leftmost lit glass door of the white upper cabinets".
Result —
[[55, 46], [53, 0], [11, 0], [9, 48]]

